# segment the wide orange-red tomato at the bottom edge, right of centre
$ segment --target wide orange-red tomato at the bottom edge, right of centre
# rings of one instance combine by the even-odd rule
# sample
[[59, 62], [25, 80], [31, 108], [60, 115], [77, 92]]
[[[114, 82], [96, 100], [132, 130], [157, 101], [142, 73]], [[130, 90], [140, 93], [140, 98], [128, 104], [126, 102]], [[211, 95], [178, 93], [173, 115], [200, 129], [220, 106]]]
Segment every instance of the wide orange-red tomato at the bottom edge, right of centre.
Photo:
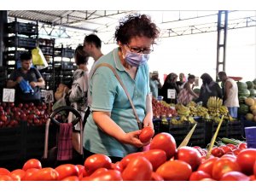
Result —
[[187, 181], [192, 173], [191, 166], [182, 160], [169, 160], [156, 170], [165, 181]]

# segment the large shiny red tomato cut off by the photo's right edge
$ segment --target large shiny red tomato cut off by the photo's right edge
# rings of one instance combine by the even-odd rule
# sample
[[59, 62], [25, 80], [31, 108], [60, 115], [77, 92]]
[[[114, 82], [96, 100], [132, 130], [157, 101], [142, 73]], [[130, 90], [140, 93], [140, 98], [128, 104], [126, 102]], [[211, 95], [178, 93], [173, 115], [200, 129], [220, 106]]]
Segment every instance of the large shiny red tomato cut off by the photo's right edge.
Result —
[[241, 172], [252, 175], [253, 166], [256, 161], [256, 148], [243, 149], [236, 158], [237, 163], [241, 167]]

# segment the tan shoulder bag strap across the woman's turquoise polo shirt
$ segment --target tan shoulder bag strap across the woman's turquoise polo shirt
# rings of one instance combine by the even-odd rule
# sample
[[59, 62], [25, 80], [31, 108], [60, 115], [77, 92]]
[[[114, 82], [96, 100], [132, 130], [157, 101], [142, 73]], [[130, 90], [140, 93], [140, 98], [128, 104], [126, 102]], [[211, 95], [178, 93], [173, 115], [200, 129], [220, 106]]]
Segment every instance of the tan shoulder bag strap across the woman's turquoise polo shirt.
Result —
[[120, 77], [119, 77], [118, 73], [116, 72], [116, 70], [115, 70], [115, 69], [113, 68], [113, 66], [111, 66], [110, 64], [108, 64], [108, 63], [102, 63], [102, 64], [97, 65], [97, 66], [94, 68], [94, 71], [92, 72], [91, 77], [92, 77], [93, 74], [96, 72], [96, 69], [97, 69], [98, 67], [108, 67], [108, 68], [110, 68], [110, 69], [112, 70], [114, 76], [116, 77], [116, 79], [118, 79], [119, 84], [121, 84], [121, 86], [122, 86], [123, 89], [125, 90], [125, 94], [126, 94], [126, 96], [128, 97], [129, 102], [131, 103], [131, 108], [132, 108], [133, 113], [134, 113], [134, 115], [135, 115], [135, 117], [136, 117], [136, 119], [137, 119], [137, 125], [138, 125], [139, 129], [142, 129], [143, 126], [142, 126], [142, 124], [141, 124], [140, 119], [139, 119], [138, 116], [137, 116], [136, 109], [135, 109], [135, 107], [134, 107], [134, 105], [133, 105], [133, 103], [132, 103], [132, 101], [131, 101], [131, 96], [129, 95], [128, 91], [126, 90], [125, 84], [124, 84], [124, 83], [122, 82], [122, 80], [120, 79]]

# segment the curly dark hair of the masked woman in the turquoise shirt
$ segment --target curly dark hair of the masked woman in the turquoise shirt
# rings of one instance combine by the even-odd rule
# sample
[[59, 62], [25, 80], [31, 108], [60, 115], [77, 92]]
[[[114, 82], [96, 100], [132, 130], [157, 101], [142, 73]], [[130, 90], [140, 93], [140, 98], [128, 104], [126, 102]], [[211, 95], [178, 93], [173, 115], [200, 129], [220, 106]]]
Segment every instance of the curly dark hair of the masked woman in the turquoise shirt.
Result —
[[114, 38], [117, 43], [127, 44], [131, 38], [136, 36], [147, 38], [158, 38], [159, 28], [151, 21], [148, 15], [127, 15], [119, 21]]

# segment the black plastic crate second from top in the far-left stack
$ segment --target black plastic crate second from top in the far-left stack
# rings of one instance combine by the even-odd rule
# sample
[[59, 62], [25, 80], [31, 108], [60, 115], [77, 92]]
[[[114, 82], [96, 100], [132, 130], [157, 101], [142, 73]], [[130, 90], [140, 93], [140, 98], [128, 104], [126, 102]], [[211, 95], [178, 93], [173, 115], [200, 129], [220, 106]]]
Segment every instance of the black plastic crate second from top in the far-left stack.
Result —
[[37, 47], [37, 39], [13, 36], [7, 38], [6, 46], [32, 49]]

